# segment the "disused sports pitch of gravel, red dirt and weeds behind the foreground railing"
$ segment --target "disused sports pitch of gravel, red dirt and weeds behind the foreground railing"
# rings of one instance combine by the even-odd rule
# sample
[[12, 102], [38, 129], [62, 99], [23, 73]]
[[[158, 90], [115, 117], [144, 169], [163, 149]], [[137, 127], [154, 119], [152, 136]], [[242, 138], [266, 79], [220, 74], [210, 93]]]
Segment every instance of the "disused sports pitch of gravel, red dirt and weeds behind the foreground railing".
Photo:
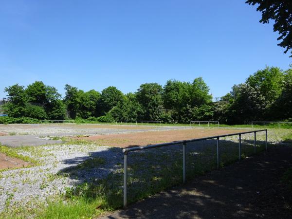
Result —
[[[108, 206], [110, 209], [121, 206], [122, 147], [247, 130], [250, 129], [96, 124], [0, 125], [0, 217], [5, 218], [6, 213], [12, 214], [15, 209], [43, 209], [47, 200], [60, 200], [60, 194], [66, 193], [68, 188], [84, 186], [86, 182], [103, 188], [100, 200], [95, 200], [95, 207], [106, 209]], [[269, 141], [272, 138], [273, 141], [281, 140], [289, 133], [289, 129], [269, 130]], [[237, 138], [233, 136], [220, 140], [222, 165], [237, 159]], [[243, 155], [253, 151], [253, 138], [253, 134], [242, 136]], [[259, 133], [257, 140], [260, 149], [264, 145], [261, 142], [264, 133]], [[212, 169], [216, 160], [215, 150], [214, 140], [188, 144], [188, 176], [194, 170], [194, 174], [201, 174]], [[131, 152], [128, 164], [129, 199], [135, 201], [148, 192], [161, 191], [166, 184], [171, 186], [181, 182], [181, 155], [182, 147], [179, 145]], [[108, 199], [104, 191], [115, 195]], [[67, 203], [71, 203], [70, 200]], [[38, 212], [32, 214], [37, 215]], [[25, 215], [24, 218], [30, 216]]]

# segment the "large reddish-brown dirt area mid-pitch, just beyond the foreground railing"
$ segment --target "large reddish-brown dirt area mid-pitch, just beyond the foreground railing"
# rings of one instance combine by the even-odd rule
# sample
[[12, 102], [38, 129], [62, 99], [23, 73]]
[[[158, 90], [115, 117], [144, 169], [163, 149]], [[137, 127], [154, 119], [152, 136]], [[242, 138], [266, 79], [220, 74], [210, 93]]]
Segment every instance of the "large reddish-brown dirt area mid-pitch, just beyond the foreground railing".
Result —
[[247, 130], [239, 129], [180, 129], [169, 131], [146, 131], [126, 134], [97, 135], [88, 137], [73, 137], [73, 139], [85, 139], [94, 141], [103, 146], [131, 147], [160, 144], [208, 136], [237, 133]]

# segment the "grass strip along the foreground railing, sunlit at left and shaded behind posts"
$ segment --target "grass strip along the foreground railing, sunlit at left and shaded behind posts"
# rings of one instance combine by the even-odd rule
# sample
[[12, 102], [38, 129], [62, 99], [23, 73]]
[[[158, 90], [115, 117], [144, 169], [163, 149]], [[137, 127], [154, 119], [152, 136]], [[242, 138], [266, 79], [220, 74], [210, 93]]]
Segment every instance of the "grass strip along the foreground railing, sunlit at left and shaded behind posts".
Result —
[[[220, 154], [220, 166], [232, 164], [238, 159], [236, 143], [224, 142]], [[232, 147], [233, 146], [233, 147]], [[232, 149], [230, 149], [232, 148]], [[225, 150], [224, 150], [225, 149]], [[257, 145], [257, 151], [263, 150], [264, 144]], [[165, 152], [162, 148], [152, 149], [152, 153], [137, 152], [130, 155], [128, 164], [128, 202], [135, 202], [151, 196], [164, 189], [182, 183], [182, 152]], [[187, 153], [187, 179], [205, 174], [216, 168], [216, 148], [209, 147], [200, 152]], [[242, 158], [253, 154], [250, 142], [242, 146]], [[153, 155], [155, 154], [155, 157]], [[146, 162], [147, 160], [151, 162]], [[98, 164], [102, 164], [98, 161]], [[95, 164], [94, 164], [95, 165]], [[89, 160], [80, 168], [91, 167]], [[121, 165], [122, 167], [122, 165]], [[63, 201], [49, 204], [45, 218], [57, 217], [66, 212], [66, 217], [73, 218], [79, 208], [88, 209], [84, 217], [94, 217], [104, 211], [112, 211], [123, 205], [123, 168], [111, 172], [106, 179], [81, 183], [66, 190]], [[82, 211], [81, 211], [82, 212]], [[79, 217], [81, 214], [79, 215]]]

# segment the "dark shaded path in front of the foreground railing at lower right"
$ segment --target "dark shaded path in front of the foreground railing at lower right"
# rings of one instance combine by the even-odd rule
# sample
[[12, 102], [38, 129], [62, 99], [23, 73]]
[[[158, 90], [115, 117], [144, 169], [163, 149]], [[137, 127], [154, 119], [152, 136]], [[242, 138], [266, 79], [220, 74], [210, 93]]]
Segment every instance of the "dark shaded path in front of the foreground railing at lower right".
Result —
[[107, 219], [292, 219], [292, 192], [280, 178], [292, 147], [277, 147], [113, 212]]

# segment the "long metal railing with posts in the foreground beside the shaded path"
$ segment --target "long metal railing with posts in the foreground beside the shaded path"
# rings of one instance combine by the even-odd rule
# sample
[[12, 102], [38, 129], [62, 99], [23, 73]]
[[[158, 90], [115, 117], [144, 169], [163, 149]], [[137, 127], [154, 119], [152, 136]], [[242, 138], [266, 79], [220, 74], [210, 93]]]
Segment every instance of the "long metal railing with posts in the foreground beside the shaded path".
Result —
[[267, 129], [262, 129], [262, 130], [255, 130], [255, 131], [246, 131], [246, 132], [238, 132], [238, 133], [233, 133], [233, 134], [226, 134], [226, 135], [218, 135], [218, 136], [211, 136], [211, 137], [205, 137], [205, 138], [197, 138], [197, 139], [190, 139], [190, 140], [183, 140], [183, 141], [177, 141], [177, 142], [170, 142], [170, 143], [163, 143], [163, 144], [157, 144], [157, 145], [149, 145], [149, 146], [138, 146], [138, 147], [130, 147], [130, 148], [124, 148], [124, 208], [127, 207], [127, 181], [128, 181], [128, 153], [131, 151], [137, 151], [137, 150], [145, 150], [145, 149], [150, 149], [150, 148], [156, 148], [156, 147], [163, 147], [163, 146], [173, 146], [173, 145], [183, 145], [183, 183], [186, 181], [186, 162], [185, 162], [185, 157], [186, 157], [186, 144], [190, 142], [198, 142], [198, 141], [203, 141], [203, 140], [209, 140], [209, 139], [216, 139], [217, 141], [217, 169], [219, 169], [219, 160], [220, 160], [220, 155], [219, 155], [219, 138], [222, 137], [228, 137], [228, 136], [234, 136], [238, 135], [238, 140], [239, 140], [239, 161], [241, 159], [241, 135], [242, 134], [249, 134], [249, 133], [254, 133], [255, 139], [254, 139], [254, 150], [256, 153], [256, 132], [260, 131], [265, 131], [266, 132], [266, 150], [268, 148], [268, 130]]

